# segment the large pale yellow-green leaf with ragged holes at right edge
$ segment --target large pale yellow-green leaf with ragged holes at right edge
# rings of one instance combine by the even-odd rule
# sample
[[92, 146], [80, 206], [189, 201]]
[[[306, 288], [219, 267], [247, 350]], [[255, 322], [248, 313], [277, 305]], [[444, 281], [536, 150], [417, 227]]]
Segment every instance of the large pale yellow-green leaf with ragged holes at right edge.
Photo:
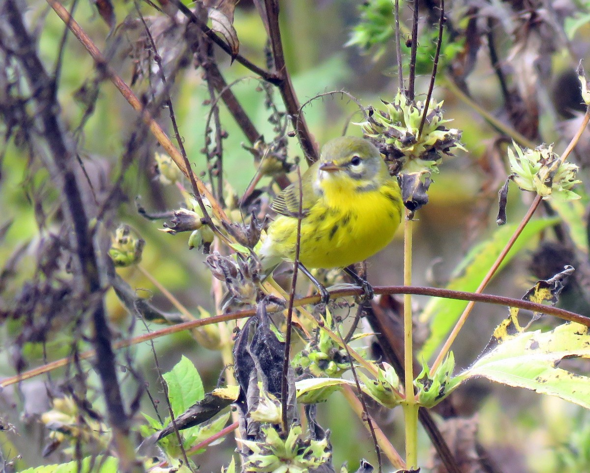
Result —
[[545, 333], [516, 330], [512, 335], [511, 320], [504, 320], [494, 332], [490, 349], [455, 381], [483, 376], [590, 409], [590, 378], [558, 368], [563, 359], [590, 358], [588, 327], [568, 322]]

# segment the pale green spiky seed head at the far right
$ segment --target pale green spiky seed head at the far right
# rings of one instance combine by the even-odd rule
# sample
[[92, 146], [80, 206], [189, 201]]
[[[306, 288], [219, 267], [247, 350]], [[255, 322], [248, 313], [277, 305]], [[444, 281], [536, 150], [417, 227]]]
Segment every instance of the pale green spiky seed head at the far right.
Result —
[[536, 192], [546, 199], [549, 196], [561, 199], [579, 199], [572, 191], [581, 181], [576, 179], [578, 166], [560, 161], [553, 153], [553, 145], [541, 145], [534, 150], [522, 150], [513, 142], [514, 151], [508, 148], [510, 179], [522, 190]]

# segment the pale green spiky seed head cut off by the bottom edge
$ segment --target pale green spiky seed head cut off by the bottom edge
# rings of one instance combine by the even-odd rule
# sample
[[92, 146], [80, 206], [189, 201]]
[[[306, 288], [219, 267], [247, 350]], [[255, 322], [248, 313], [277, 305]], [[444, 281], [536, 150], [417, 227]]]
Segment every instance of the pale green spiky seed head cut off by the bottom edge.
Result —
[[294, 425], [287, 438], [281, 438], [272, 427], [262, 428], [260, 441], [240, 439], [250, 449], [244, 462], [244, 472], [307, 473], [330, 462], [332, 449], [327, 438], [314, 440], [301, 434]]

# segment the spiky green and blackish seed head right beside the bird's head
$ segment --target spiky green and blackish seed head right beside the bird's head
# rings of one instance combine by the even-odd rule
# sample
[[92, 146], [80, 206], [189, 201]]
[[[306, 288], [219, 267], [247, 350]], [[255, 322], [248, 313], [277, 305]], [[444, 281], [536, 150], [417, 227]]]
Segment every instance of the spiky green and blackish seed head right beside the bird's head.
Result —
[[460, 143], [461, 131], [444, 126], [451, 120], [442, 117], [442, 102], [429, 105], [423, 124], [425, 102], [409, 100], [398, 91], [392, 102], [383, 104], [385, 110], [370, 108], [368, 120], [356, 125], [389, 160], [401, 161], [404, 173], [438, 173], [443, 154], [453, 156], [453, 148], [465, 150]]

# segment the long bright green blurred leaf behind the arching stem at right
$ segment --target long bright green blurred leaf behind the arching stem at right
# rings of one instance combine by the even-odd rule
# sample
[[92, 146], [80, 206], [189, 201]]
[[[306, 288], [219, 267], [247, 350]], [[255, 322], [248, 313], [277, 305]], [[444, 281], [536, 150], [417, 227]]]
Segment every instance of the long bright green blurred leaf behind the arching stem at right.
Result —
[[[499, 270], [506, 266], [517, 253], [525, 248], [540, 231], [558, 221], [558, 219], [530, 221], [516, 240], [516, 243], [514, 243], [512, 250], [510, 250], [504, 261], [500, 264]], [[471, 249], [465, 259], [458, 264], [454, 271], [454, 279], [451, 280], [447, 289], [474, 292], [514, 233], [514, 230], [516, 230], [516, 227], [516, 224], [504, 225], [497, 229], [489, 240]], [[418, 359], [427, 360], [431, 358], [434, 350], [437, 349], [442, 340], [448, 335], [466, 306], [467, 302], [464, 300], [431, 299], [419, 316], [421, 323], [430, 326], [430, 337], [426, 340], [424, 346], [422, 346]]]

